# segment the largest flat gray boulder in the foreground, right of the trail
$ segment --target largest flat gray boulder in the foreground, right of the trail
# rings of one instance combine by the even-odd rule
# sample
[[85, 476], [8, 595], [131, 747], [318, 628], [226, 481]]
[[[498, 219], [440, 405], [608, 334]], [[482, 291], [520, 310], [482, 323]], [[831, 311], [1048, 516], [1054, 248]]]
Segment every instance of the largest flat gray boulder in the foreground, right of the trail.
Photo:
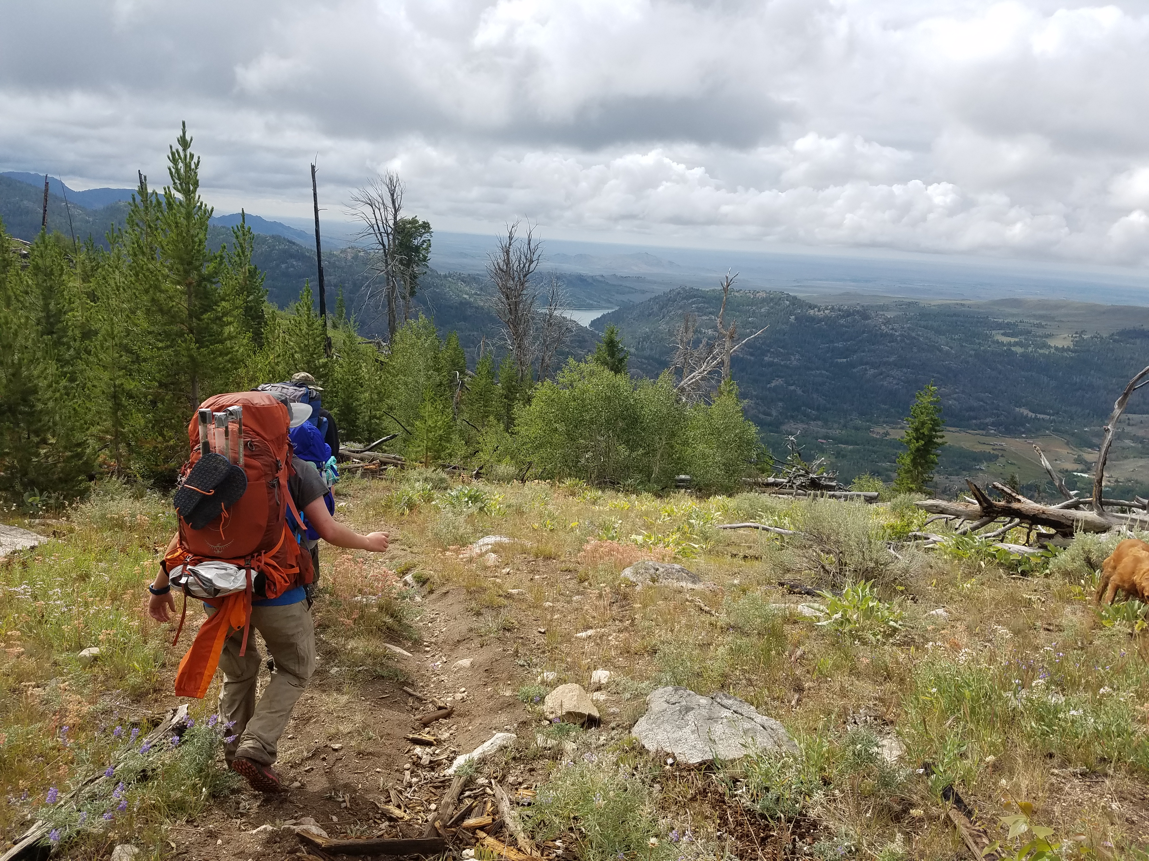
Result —
[[786, 728], [749, 703], [728, 693], [703, 697], [688, 688], [653, 691], [647, 713], [631, 732], [648, 751], [688, 765], [741, 759], [755, 751], [797, 753]]

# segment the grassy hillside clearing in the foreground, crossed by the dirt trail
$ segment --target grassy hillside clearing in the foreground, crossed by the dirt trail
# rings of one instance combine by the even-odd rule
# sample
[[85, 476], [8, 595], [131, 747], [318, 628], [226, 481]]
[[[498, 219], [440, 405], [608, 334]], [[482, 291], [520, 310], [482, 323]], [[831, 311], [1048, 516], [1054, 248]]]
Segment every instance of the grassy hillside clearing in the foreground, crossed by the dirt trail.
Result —
[[[65, 858], [133, 843], [154, 858], [242, 861], [299, 856], [303, 817], [331, 837], [411, 836], [455, 755], [510, 731], [475, 776], [533, 799], [520, 815], [548, 858], [967, 858], [948, 788], [1003, 844], [1032, 838], [1002, 825], [1024, 816], [1052, 829], [1062, 858], [1149, 858], [1143, 615], [1090, 604], [1116, 537], [1079, 537], [1048, 571], [1025, 572], [976, 542], [901, 543], [924, 519], [904, 498], [656, 498], [415, 471], [346, 479], [338, 501], [340, 519], [386, 528], [393, 544], [383, 557], [322, 550], [319, 665], [280, 743], [282, 774], [299, 785], [278, 797], [222, 770], [218, 681], [182, 742], [132, 765], [156, 757], [132, 747], [131, 729], [176, 705], [167, 692], [187, 642], [171, 649], [173, 626], [142, 608], [172, 529], [167, 502], [108, 486], [59, 520], [14, 519], [54, 537], [0, 561], [0, 838], [54, 816]], [[805, 537], [716, 528], [750, 520]], [[510, 541], [469, 558], [487, 535]], [[619, 577], [642, 558], [710, 585]], [[780, 580], [873, 589], [832, 599]], [[90, 665], [88, 646], [101, 650]], [[595, 669], [611, 673], [600, 726], [542, 719], [548, 691], [589, 688]], [[651, 758], [630, 728], [666, 684], [742, 698], [800, 754]], [[404, 738], [427, 709], [408, 691], [454, 706], [427, 729], [433, 746]], [[65, 812], [70, 788], [105, 767], [130, 777]], [[396, 802], [408, 822], [384, 810]]]

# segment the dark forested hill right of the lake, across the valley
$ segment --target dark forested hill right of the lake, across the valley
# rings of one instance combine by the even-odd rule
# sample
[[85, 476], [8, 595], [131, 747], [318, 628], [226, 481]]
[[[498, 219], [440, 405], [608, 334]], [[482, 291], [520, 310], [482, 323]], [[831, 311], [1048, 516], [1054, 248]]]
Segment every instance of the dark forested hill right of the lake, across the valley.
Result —
[[[631, 348], [631, 367], [657, 374], [685, 313], [716, 336], [717, 290], [681, 288], [599, 318]], [[761, 427], [900, 421], [933, 380], [949, 425], [1010, 434], [1080, 433], [1104, 420], [1125, 382], [1149, 360], [1149, 331], [1078, 335], [1054, 347], [1035, 325], [962, 307], [816, 305], [785, 293], [733, 292], [739, 336], [766, 332], [735, 354], [733, 374]], [[889, 311], [889, 312], [887, 312]]]

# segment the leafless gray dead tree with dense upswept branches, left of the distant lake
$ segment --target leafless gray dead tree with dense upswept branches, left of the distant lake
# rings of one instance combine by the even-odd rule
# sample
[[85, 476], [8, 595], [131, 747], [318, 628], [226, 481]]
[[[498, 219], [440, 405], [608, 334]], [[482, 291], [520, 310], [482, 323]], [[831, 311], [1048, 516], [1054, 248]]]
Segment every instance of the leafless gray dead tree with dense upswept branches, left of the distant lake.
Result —
[[523, 377], [534, 364], [534, 305], [539, 289], [533, 277], [542, 262], [542, 247], [530, 224], [520, 236], [519, 224], [507, 225], [507, 235], [499, 236], [499, 247], [487, 258], [487, 277], [495, 286], [495, 316], [502, 323], [503, 338]]

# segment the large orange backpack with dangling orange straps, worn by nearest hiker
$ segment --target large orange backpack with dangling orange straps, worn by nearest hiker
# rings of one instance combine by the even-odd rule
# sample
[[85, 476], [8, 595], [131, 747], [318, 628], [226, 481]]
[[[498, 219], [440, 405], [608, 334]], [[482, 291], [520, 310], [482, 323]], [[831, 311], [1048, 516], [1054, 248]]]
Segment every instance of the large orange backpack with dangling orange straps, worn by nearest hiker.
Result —
[[[164, 572], [171, 572], [179, 565], [219, 560], [244, 568], [247, 574], [245, 591], [205, 599], [216, 612], [200, 626], [176, 674], [176, 693], [186, 697], [202, 698], [207, 693], [224, 641], [232, 630], [242, 628], [239, 653], [246, 653], [253, 597], [277, 598], [314, 580], [311, 556], [299, 544], [302, 518], [287, 488], [287, 479], [295, 474], [287, 437], [287, 408], [263, 391], [215, 395], [200, 404], [201, 410], [213, 412], [223, 412], [229, 406], [244, 408], [242, 437], [231, 441], [229, 448], [237, 453], [229, 455], [233, 461], [238, 460], [237, 442], [242, 445], [247, 488], [238, 502], [201, 529], [194, 529], [180, 517], [179, 532], [172, 536], [161, 563]], [[180, 471], [180, 481], [202, 456], [198, 414], [187, 426], [187, 439], [192, 453]], [[256, 596], [257, 592], [262, 596]], [[183, 613], [187, 613], [186, 591]], [[184, 615], [176, 641], [183, 626]]]

